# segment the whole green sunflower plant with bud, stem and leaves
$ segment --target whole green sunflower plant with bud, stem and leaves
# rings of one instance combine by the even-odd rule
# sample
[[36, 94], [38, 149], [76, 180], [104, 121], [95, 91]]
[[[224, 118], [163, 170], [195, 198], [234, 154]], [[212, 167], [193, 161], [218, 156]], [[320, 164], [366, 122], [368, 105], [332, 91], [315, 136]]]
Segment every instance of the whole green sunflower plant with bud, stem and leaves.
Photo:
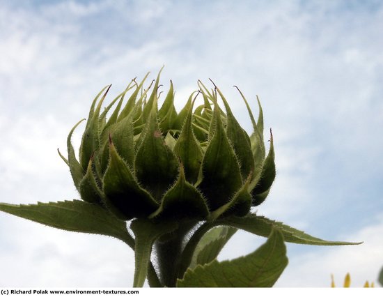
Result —
[[[70, 130], [68, 158], [58, 153], [83, 201], [0, 204], [0, 211], [119, 238], [135, 253], [134, 287], [146, 279], [152, 287], [271, 287], [288, 264], [283, 241], [356, 244], [324, 241], [251, 213], [251, 206], [265, 201], [276, 176], [274, 139], [270, 131], [266, 156], [258, 98], [256, 121], [240, 92], [253, 124], [248, 135], [215, 84], [208, 90], [198, 81], [200, 90], [177, 112], [171, 82], [159, 107], [159, 74], [146, 89], [148, 75], [139, 83], [133, 79], [103, 110], [110, 86], [97, 94], [78, 157], [71, 139], [84, 120]], [[198, 95], [203, 104], [194, 108]], [[237, 229], [267, 242], [245, 257], [217, 261]]]

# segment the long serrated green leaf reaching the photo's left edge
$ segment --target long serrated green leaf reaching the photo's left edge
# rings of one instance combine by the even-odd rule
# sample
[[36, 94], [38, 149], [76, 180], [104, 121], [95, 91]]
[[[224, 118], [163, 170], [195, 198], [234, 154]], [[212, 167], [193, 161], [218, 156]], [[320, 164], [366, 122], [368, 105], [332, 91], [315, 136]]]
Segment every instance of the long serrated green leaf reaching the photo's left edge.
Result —
[[85, 201], [0, 204], [0, 211], [58, 229], [113, 236], [129, 245], [134, 244], [124, 221], [101, 206]]

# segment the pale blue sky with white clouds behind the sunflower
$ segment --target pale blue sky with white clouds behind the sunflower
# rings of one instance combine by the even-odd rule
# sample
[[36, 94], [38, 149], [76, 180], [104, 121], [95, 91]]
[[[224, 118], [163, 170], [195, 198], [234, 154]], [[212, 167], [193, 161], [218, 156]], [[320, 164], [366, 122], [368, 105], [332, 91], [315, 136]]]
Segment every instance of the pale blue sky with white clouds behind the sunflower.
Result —
[[[272, 128], [276, 181], [260, 215], [362, 245], [288, 244], [277, 287], [375, 281], [383, 266], [382, 1], [0, 0], [1, 201], [78, 199], [58, 157], [94, 96], [134, 77], [175, 86], [185, 104], [213, 79], [241, 125], [238, 86]], [[81, 131], [74, 136], [78, 148]], [[268, 137], [266, 134], [265, 137]], [[219, 259], [265, 238], [238, 232]], [[0, 213], [0, 287], [126, 287], [134, 254], [102, 236]]]

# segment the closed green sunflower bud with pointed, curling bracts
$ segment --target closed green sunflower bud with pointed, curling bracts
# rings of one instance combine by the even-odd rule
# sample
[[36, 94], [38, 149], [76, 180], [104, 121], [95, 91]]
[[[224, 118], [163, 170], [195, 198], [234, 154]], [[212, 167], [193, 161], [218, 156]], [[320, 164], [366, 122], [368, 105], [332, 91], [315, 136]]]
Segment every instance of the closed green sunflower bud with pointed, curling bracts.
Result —
[[[177, 112], [173, 83], [159, 108], [159, 75], [144, 89], [146, 77], [140, 84], [132, 80], [103, 111], [110, 86], [100, 91], [91, 105], [78, 160], [71, 137], [80, 122], [70, 131], [64, 160], [81, 199], [122, 220], [214, 220], [247, 215], [251, 206], [262, 203], [275, 165], [272, 135], [265, 153], [259, 100], [255, 121], [241, 93], [253, 124], [249, 136], [217, 86], [208, 90], [198, 82], [200, 90]], [[203, 104], [195, 107], [200, 93]]]

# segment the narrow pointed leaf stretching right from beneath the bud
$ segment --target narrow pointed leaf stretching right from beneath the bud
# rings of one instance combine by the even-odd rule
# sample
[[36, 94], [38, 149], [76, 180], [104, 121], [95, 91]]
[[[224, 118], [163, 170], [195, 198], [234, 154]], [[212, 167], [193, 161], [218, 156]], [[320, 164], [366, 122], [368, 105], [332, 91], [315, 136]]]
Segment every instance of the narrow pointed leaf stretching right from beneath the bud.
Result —
[[223, 224], [230, 227], [249, 231], [252, 234], [258, 236], [267, 237], [270, 231], [278, 229], [282, 232], [285, 241], [289, 243], [300, 243], [305, 245], [359, 245], [361, 243], [348, 243], [344, 241], [325, 241], [323, 239], [308, 235], [304, 231], [292, 228], [281, 222], [269, 220], [263, 216], [258, 216], [254, 213], [250, 213], [245, 217], [234, 217], [225, 218], [217, 221], [216, 224]]

